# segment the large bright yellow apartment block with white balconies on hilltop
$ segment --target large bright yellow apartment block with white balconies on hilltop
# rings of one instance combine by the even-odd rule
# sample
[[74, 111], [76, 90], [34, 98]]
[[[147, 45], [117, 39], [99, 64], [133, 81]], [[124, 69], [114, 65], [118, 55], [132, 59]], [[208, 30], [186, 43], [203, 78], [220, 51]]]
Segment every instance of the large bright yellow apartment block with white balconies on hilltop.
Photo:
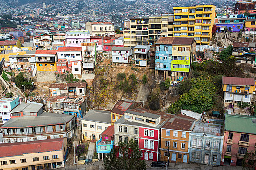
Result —
[[193, 37], [197, 45], [209, 45], [215, 20], [215, 6], [173, 7], [174, 37]]

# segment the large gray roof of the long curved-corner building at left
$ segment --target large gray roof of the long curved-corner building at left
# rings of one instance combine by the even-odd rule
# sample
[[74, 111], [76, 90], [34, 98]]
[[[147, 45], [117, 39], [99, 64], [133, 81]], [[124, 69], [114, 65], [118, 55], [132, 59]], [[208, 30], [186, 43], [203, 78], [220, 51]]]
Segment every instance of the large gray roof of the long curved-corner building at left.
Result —
[[43, 112], [38, 116], [21, 116], [9, 119], [1, 128], [33, 127], [64, 124], [72, 120], [74, 115]]

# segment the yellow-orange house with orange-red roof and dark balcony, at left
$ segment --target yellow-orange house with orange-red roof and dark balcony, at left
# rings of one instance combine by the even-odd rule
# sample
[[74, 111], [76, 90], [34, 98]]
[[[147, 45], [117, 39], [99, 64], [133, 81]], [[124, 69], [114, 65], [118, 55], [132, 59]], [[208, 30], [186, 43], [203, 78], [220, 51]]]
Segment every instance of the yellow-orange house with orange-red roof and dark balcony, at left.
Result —
[[57, 71], [56, 54], [57, 50], [37, 50], [35, 53], [37, 71]]

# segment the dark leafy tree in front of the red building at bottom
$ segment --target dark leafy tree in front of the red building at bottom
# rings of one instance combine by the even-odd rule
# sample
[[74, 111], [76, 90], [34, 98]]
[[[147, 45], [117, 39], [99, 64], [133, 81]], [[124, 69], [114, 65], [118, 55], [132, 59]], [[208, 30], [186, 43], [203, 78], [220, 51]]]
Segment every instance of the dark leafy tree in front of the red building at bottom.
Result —
[[104, 159], [106, 170], [146, 170], [145, 160], [141, 160], [141, 151], [131, 139], [129, 143], [119, 142]]

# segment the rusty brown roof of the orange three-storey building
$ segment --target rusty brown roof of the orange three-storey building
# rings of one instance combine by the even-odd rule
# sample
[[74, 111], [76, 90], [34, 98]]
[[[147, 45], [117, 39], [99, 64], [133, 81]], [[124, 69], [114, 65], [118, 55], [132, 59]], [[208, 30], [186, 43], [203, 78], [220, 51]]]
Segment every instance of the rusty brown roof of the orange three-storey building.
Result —
[[174, 129], [181, 131], [190, 131], [190, 127], [192, 126], [195, 118], [178, 114], [178, 115], [170, 115], [170, 119], [162, 126], [164, 129]]

